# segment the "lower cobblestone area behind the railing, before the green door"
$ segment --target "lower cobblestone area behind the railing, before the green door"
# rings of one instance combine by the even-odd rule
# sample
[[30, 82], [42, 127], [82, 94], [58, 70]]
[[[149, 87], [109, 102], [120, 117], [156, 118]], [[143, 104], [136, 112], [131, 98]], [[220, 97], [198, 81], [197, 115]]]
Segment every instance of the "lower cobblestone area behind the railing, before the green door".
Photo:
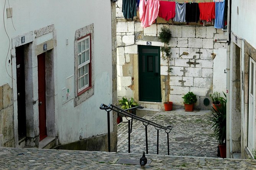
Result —
[[[170, 155], [217, 157], [218, 143], [211, 129], [210, 112], [185, 112], [184, 109], [178, 109], [148, 114], [144, 118], [160, 125], [173, 126], [169, 134]], [[117, 151], [128, 152], [128, 123], [120, 123], [117, 129]], [[146, 151], [145, 126], [141, 122], [133, 121], [130, 139], [131, 153]], [[151, 125], [148, 125], [148, 153], [157, 154], [157, 130]], [[159, 154], [168, 154], [167, 135], [164, 130], [159, 130]]]

